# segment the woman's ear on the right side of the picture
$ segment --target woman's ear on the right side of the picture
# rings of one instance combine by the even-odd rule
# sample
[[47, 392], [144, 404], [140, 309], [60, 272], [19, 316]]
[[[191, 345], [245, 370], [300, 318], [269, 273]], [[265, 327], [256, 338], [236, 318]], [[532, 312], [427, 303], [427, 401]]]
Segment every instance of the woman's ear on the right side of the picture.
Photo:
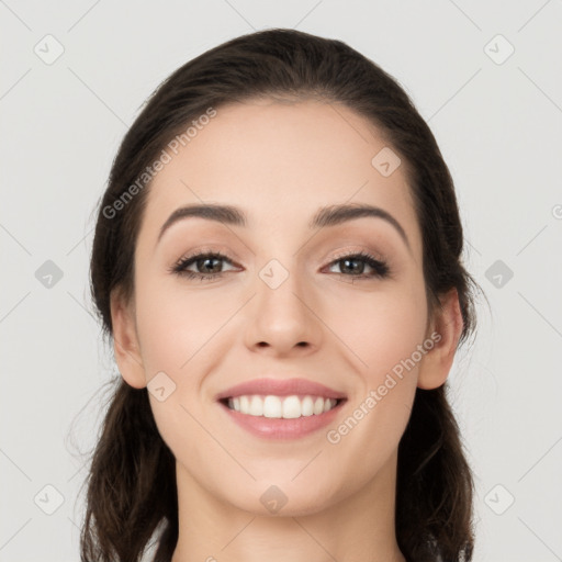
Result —
[[463, 327], [457, 289], [439, 301], [441, 306], [435, 313], [428, 335], [435, 345], [424, 356], [418, 371], [417, 386], [425, 390], [441, 386], [449, 376]]

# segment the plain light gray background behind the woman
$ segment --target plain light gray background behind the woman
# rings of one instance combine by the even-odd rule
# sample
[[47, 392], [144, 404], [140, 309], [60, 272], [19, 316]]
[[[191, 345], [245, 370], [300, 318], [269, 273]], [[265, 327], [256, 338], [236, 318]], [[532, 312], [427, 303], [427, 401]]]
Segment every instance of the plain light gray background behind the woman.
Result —
[[94, 442], [95, 393], [115, 372], [88, 259], [122, 136], [177, 67], [272, 26], [362, 52], [434, 131], [490, 300], [450, 376], [476, 477], [474, 560], [562, 560], [561, 20], [560, 0], [0, 1], [0, 560], [78, 560], [86, 470], [69, 431]]

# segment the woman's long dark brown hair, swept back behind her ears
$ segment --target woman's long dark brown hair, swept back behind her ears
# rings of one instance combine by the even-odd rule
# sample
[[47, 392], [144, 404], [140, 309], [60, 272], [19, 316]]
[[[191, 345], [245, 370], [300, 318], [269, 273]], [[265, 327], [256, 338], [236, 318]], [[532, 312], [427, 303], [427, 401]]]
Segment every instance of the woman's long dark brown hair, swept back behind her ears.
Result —
[[[149, 182], [125, 204], [115, 202], [125, 201], [143, 170], [209, 108], [259, 97], [340, 103], [384, 135], [407, 170], [423, 233], [429, 311], [439, 306], [439, 295], [457, 289], [463, 342], [474, 330], [477, 285], [462, 265], [453, 182], [429, 127], [395, 79], [370, 59], [340, 41], [282, 29], [234, 38], [183, 65], [125, 135], [99, 207], [91, 256], [91, 292], [104, 335], [113, 335], [111, 292], [134, 295], [134, 250]], [[169, 562], [178, 539], [175, 458], [157, 430], [147, 390], [121, 376], [113, 382], [85, 482], [81, 560], [137, 561], [157, 535], [154, 560]], [[416, 562], [472, 559], [473, 480], [446, 387], [416, 390], [398, 446], [396, 538], [406, 559]]]

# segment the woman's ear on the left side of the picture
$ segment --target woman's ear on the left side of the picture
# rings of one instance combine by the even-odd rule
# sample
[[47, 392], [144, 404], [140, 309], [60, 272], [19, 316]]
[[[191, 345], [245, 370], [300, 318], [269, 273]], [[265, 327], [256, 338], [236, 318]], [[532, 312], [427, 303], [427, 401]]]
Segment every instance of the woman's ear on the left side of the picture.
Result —
[[113, 349], [117, 368], [127, 384], [135, 389], [147, 385], [133, 306], [125, 302], [120, 290], [110, 296], [113, 326]]

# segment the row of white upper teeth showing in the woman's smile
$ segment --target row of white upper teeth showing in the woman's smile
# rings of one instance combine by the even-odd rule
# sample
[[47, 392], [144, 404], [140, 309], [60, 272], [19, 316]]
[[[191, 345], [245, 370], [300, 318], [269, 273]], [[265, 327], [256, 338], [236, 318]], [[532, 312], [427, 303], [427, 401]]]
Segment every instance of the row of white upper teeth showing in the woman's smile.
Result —
[[228, 398], [228, 407], [249, 416], [294, 419], [301, 416], [319, 415], [330, 411], [337, 401], [322, 396], [259, 396], [244, 395]]

